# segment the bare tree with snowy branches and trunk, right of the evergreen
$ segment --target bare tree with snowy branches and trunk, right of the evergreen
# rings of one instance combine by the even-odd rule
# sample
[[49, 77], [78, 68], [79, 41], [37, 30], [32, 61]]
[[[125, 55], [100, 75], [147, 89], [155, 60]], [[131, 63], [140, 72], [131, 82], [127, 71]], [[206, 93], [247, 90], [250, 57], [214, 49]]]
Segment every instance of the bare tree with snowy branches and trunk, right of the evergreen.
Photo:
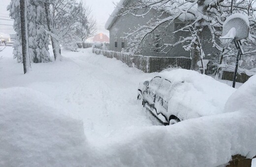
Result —
[[60, 43], [65, 36], [73, 32], [72, 26], [79, 14], [79, 3], [76, 0], [44, 0], [47, 29], [51, 36], [55, 60], [61, 59]]

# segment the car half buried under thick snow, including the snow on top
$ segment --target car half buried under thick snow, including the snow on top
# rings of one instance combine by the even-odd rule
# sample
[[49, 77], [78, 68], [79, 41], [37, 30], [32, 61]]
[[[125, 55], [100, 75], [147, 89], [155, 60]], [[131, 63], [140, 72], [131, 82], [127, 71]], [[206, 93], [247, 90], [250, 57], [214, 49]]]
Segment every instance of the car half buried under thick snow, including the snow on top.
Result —
[[164, 125], [222, 113], [235, 91], [225, 83], [196, 71], [162, 72], [139, 84], [137, 99]]

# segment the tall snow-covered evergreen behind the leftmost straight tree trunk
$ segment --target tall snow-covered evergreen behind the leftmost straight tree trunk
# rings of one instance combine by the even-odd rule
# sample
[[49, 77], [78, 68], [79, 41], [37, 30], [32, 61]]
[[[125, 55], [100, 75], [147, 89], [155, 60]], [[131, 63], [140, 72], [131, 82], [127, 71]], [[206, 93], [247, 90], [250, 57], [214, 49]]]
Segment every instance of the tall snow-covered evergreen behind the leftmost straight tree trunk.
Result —
[[[20, 31], [20, 9], [19, 0], [11, 0], [7, 10], [10, 16], [14, 19], [14, 30], [16, 31], [16, 38], [13, 45], [13, 55], [17, 58], [18, 62], [23, 62], [21, 57], [21, 31]], [[45, 12], [43, 0], [27, 0], [27, 23], [28, 23], [28, 36], [29, 36], [29, 55], [31, 60], [35, 63], [49, 62], [49, 37], [42, 29], [46, 26]]]

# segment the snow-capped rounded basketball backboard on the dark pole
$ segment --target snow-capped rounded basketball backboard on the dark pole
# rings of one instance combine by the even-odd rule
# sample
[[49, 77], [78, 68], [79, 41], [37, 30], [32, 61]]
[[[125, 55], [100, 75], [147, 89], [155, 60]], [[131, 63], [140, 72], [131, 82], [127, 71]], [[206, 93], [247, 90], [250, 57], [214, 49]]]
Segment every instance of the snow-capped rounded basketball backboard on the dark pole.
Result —
[[247, 38], [250, 32], [250, 23], [248, 17], [241, 13], [236, 13], [229, 16], [224, 22], [222, 36], [224, 37], [227, 35], [232, 28], [235, 28], [236, 30], [236, 35], [234, 37], [235, 41]]

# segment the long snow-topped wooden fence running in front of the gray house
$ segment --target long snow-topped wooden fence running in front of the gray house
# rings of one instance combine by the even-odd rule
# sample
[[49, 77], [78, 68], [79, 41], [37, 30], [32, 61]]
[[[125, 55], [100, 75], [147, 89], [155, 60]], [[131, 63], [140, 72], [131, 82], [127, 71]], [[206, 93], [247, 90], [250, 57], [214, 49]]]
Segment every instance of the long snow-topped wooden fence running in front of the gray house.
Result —
[[130, 55], [129, 53], [120, 53], [114, 51], [104, 51], [93, 49], [96, 55], [103, 55], [109, 58], [116, 58], [126, 63], [129, 67], [136, 67], [146, 73], [160, 72], [168, 67], [181, 67], [190, 69], [191, 59], [187, 57], [157, 57]]

